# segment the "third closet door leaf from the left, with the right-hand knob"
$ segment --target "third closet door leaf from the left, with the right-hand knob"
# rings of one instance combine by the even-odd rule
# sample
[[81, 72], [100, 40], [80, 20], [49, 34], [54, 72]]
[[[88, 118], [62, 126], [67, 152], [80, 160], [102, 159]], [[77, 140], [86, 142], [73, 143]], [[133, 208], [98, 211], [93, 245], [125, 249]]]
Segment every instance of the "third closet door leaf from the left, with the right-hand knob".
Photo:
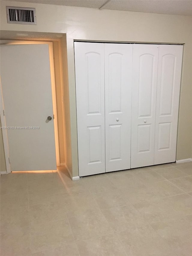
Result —
[[131, 168], [154, 164], [159, 45], [134, 44], [131, 114]]

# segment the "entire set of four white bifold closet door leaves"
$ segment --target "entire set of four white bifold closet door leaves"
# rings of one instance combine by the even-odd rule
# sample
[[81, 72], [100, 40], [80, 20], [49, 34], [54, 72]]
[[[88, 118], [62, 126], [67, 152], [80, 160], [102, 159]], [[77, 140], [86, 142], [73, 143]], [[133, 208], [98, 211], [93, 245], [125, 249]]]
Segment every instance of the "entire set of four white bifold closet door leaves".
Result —
[[183, 46], [74, 48], [79, 176], [175, 161]]

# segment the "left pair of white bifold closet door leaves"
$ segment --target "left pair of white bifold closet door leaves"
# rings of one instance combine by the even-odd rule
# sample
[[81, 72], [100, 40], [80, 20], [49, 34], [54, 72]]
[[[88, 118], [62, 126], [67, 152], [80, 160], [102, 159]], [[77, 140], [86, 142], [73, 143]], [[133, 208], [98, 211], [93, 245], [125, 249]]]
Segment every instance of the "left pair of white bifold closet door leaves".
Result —
[[133, 46], [74, 47], [79, 176], [130, 169]]

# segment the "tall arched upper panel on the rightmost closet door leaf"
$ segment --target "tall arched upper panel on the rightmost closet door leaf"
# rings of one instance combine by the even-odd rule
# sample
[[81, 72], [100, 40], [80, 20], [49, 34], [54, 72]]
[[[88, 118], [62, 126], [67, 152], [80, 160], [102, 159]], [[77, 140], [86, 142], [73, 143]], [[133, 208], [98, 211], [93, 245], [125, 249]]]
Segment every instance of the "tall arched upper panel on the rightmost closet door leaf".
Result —
[[160, 116], [172, 114], [175, 59], [176, 57], [172, 54], [162, 57]]

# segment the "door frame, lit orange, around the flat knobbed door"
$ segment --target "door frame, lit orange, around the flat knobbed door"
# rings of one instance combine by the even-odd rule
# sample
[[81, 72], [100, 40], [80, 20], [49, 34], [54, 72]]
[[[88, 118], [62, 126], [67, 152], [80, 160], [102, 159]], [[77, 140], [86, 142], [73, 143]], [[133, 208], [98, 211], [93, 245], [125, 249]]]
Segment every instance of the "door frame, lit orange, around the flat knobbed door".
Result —
[[[31, 41], [31, 40], [30, 41], [24, 41], [24, 40], [1, 40], [1, 41], [3, 41], [4, 44], [48, 44], [48, 46], [49, 46], [51, 90], [52, 90], [52, 106], [53, 106], [53, 116], [54, 116], [53, 121], [54, 121], [56, 165], [60, 166], [53, 43], [51, 41]], [[0, 83], [0, 87], [1, 87], [1, 83]], [[0, 101], [1, 101], [1, 104], [3, 104], [2, 90], [1, 90], [0, 94], [1, 94], [0, 95], [0, 97], [1, 97]], [[0, 110], [0, 116], [1, 116], [1, 119], [2, 119], [1, 120], [1, 126], [6, 126], [6, 119], [5, 119], [5, 116], [3, 114], [3, 109], [4, 109], [4, 106], [2, 105], [1, 110]], [[6, 169], [7, 169], [6, 173], [10, 173], [11, 172], [11, 167], [10, 167], [10, 163], [9, 163], [9, 146], [8, 146], [8, 136], [7, 136], [7, 130], [6, 129], [2, 129], [2, 136], [3, 136], [3, 143], [4, 143], [4, 154], [5, 154], [5, 161], [6, 161]], [[4, 174], [4, 172], [1, 172], [1, 174]]]

